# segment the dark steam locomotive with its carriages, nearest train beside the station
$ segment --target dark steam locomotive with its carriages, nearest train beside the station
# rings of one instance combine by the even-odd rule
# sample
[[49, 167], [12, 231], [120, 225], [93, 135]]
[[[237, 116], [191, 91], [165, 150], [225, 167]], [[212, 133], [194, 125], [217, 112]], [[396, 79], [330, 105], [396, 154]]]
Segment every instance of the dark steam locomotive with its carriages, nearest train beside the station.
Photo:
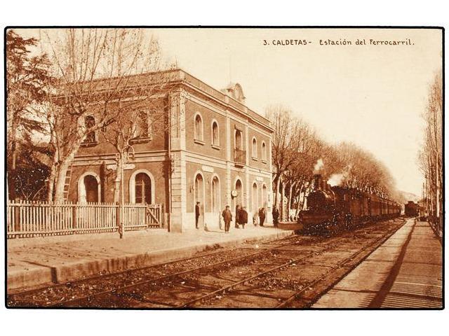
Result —
[[401, 215], [401, 205], [372, 193], [331, 187], [321, 175], [314, 175], [314, 186], [307, 197], [307, 210], [297, 222], [304, 233], [350, 230], [366, 221], [378, 221]]

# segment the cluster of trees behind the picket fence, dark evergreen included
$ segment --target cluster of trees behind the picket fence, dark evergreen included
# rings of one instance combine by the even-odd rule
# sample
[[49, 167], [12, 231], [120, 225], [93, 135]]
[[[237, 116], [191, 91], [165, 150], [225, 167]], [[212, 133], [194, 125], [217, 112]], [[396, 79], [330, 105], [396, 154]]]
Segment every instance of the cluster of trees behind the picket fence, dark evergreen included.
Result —
[[[151, 127], [142, 120], [165, 120], [165, 110], [152, 106], [163, 83], [142, 85], [138, 75], [170, 65], [162, 65], [158, 41], [141, 29], [57, 33], [44, 31], [39, 40], [12, 29], [6, 34], [8, 197], [32, 200], [46, 190], [46, 200], [64, 200], [74, 155], [98, 132], [117, 153], [117, 202], [130, 141], [145, 137]], [[27, 182], [30, 176], [34, 186]]]

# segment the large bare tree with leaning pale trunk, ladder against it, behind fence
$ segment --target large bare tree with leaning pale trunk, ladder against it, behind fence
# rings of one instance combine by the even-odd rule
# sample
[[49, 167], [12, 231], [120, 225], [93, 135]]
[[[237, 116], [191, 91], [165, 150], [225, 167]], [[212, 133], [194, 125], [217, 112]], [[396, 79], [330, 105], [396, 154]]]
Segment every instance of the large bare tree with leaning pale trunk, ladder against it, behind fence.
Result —
[[136, 75], [153, 69], [159, 53], [141, 29], [65, 29], [62, 36], [47, 32], [46, 38], [58, 78], [46, 106], [55, 153], [48, 200], [60, 202], [67, 169], [80, 146], [149, 99]]

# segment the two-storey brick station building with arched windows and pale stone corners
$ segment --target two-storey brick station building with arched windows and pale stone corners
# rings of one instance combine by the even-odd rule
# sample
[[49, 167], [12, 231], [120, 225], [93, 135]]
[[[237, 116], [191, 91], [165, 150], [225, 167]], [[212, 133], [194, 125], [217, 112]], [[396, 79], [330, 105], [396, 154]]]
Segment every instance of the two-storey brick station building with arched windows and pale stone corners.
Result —
[[[197, 201], [201, 225], [209, 230], [217, 230], [227, 204], [234, 218], [241, 204], [249, 223], [260, 207], [271, 221], [274, 130], [269, 120], [245, 106], [239, 84], [215, 90], [180, 69], [140, 75], [140, 83], [151, 85], [156, 74], [166, 85], [152, 106], [161, 106], [166, 120], [149, 123], [145, 137], [133, 143], [134, 155], [124, 170], [124, 202], [163, 204], [165, 223], [171, 208], [171, 232], [195, 228]], [[95, 123], [95, 116], [86, 122]], [[89, 134], [69, 172], [67, 200], [112, 202], [115, 158], [112, 145]]]

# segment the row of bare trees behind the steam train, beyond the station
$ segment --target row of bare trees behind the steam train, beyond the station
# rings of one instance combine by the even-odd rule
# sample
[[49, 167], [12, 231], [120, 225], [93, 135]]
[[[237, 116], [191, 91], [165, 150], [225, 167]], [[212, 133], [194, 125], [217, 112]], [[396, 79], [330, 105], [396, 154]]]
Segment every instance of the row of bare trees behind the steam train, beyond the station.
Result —
[[395, 198], [394, 179], [387, 167], [354, 144], [327, 144], [308, 123], [285, 106], [269, 106], [266, 116], [274, 127], [272, 163], [274, 204], [283, 219], [307, 206], [304, 196], [314, 174], [332, 186], [344, 186]]

